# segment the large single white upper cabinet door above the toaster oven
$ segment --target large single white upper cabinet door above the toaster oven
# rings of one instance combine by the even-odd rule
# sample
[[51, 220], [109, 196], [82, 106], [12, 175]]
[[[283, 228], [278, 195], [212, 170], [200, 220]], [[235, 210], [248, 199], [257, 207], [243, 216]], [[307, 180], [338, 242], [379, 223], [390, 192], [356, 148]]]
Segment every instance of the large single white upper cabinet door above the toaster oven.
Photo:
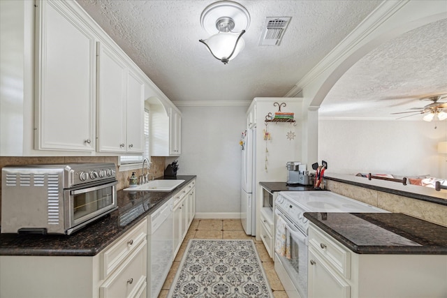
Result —
[[94, 33], [61, 1], [37, 6], [34, 147], [94, 151]]

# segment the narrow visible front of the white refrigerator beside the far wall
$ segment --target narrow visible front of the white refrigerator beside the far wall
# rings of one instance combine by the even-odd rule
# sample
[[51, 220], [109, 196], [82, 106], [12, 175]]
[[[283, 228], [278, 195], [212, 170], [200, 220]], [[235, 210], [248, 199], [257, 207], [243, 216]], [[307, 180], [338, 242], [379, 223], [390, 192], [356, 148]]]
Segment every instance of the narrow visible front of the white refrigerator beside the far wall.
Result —
[[240, 192], [240, 217], [246, 234], [256, 235], [256, 187], [254, 172], [256, 167], [256, 128], [247, 128], [242, 149], [242, 181]]

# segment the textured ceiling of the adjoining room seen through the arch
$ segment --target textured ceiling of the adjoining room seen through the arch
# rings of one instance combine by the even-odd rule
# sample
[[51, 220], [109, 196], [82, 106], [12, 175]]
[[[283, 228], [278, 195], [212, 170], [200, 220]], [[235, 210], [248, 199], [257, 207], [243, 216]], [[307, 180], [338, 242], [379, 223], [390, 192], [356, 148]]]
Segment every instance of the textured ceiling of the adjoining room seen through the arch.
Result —
[[[323, 100], [320, 117], [396, 119], [447, 94], [447, 19], [427, 24], [390, 40], [352, 66]], [[444, 98], [442, 101], [447, 101]], [[415, 113], [416, 114], [416, 113]], [[420, 120], [416, 114], [405, 120]]]

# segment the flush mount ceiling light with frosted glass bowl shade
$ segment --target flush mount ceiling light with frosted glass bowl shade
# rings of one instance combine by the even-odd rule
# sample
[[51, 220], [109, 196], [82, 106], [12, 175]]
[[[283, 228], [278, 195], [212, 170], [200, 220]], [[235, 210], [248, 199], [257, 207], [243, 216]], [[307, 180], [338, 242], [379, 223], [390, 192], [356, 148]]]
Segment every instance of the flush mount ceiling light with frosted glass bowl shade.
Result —
[[234, 59], [244, 48], [242, 35], [250, 24], [249, 12], [244, 6], [232, 1], [212, 3], [200, 15], [203, 29], [212, 34], [203, 43], [212, 56], [223, 64]]

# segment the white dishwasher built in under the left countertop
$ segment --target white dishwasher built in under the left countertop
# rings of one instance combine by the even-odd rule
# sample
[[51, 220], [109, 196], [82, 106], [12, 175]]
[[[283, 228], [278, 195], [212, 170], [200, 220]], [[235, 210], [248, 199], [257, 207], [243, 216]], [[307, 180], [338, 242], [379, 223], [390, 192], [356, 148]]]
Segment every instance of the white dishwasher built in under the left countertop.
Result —
[[169, 269], [173, 265], [173, 209], [173, 198], [170, 198], [149, 216], [147, 222], [147, 269], [150, 272], [147, 276], [149, 285], [147, 292], [151, 298], [159, 296]]

